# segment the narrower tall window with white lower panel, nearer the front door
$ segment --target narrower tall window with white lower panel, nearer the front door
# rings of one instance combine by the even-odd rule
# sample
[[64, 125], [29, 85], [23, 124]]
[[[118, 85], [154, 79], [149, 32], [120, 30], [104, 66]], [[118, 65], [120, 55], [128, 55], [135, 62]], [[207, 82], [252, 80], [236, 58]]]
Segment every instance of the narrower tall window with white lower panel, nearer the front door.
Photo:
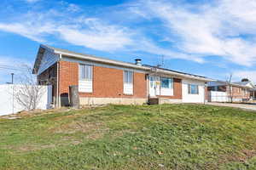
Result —
[[[127, 80], [126, 79], [126, 73], [127, 73]], [[129, 78], [129, 76], [131, 76]], [[133, 95], [133, 82], [134, 82], [134, 72], [133, 71], [124, 71], [123, 73], [123, 84], [124, 84], [124, 88], [123, 88], [123, 93], [127, 94], [127, 95]]]

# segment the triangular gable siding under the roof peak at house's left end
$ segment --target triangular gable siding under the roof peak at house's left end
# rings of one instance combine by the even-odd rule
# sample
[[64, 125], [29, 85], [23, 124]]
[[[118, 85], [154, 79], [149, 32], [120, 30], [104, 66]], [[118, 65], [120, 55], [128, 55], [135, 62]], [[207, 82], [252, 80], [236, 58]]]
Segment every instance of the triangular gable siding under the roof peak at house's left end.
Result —
[[51, 65], [54, 65], [58, 59], [59, 59], [59, 54], [54, 54], [48, 49], [45, 49], [40, 67], [38, 69], [38, 74], [41, 74], [46, 69], [48, 69]]

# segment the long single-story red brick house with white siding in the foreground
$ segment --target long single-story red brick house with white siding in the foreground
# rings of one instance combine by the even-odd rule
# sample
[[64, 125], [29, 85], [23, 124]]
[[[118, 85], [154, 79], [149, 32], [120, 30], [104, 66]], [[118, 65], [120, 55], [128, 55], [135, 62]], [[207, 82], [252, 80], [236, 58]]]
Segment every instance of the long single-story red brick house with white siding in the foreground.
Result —
[[56, 106], [68, 105], [69, 86], [79, 86], [80, 105], [206, 101], [206, 77], [136, 63], [104, 59], [41, 45], [33, 74], [53, 86]]

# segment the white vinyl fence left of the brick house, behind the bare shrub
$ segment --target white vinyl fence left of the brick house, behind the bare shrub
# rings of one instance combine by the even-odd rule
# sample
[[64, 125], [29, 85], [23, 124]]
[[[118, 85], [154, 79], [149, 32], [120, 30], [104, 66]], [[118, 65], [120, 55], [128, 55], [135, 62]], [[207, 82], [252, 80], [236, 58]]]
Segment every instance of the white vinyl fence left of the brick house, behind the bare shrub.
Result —
[[[25, 106], [20, 105], [16, 93], [31, 86], [3, 84], [0, 85], [0, 116], [26, 111]], [[52, 102], [52, 87], [37, 86], [39, 91], [37, 109], [46, 110], [50, 108]]]

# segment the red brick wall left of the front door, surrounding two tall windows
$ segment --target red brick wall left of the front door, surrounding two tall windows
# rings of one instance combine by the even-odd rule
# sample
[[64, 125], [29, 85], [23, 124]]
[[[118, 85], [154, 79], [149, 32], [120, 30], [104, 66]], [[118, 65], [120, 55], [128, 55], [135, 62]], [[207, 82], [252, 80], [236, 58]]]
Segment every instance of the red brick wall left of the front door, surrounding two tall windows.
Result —
[[[79, 63], [60, 61], [60, 95], [67, 96], [69, 86], [79, 85]], [[145, 74], [134, 72], [133, 95], [123, 94], [123, 71], [93, 66], [93, 92], [80, 93], [82, 97], [99, 98], [146, 98]]]

